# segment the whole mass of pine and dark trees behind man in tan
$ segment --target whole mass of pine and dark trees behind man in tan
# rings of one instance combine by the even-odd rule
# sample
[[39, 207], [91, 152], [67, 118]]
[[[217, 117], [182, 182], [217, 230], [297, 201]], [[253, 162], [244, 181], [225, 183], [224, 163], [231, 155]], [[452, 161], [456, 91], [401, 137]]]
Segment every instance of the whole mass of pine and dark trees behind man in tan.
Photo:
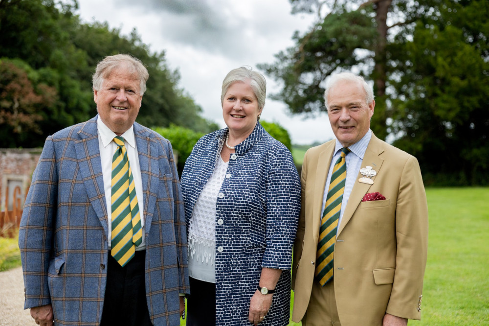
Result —
[[434, 184], [489, 184], [488, 1], [290, 2], [318, 20], [259, 65], [283, 85], [275, 99], [292, 113], [326, 111], [328, 76], [359, 72], [374, 82], [379, 138], [415, 155]]

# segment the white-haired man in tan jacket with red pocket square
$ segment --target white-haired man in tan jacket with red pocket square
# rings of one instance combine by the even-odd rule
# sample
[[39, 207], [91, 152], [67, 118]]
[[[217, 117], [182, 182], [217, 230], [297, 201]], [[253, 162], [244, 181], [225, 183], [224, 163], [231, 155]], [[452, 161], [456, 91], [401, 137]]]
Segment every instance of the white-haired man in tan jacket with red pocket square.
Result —
[[361, 76], [333, 75], [324, 97], [336, 139], [304, 157], [292, 320], [407, 325], [421, 318], [428, 242], [418, 161], [372, 133]]

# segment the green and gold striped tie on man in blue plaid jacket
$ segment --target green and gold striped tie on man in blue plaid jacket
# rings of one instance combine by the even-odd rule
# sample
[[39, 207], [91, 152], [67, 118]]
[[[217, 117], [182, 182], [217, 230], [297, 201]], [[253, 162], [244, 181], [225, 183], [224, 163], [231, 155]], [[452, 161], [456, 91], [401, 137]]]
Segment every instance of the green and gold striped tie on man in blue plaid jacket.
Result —
[[124, 138], [116, 136], [112, 158], [112, 237], [111, 255], [124, 266], [141, 244], [142, 230], [133, 173], [127, 157]]

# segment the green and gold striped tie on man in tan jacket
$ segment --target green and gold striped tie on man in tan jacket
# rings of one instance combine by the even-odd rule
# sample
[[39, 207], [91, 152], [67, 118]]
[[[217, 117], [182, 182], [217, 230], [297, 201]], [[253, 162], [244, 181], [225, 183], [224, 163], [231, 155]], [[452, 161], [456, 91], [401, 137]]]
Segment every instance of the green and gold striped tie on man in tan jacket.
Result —
[[330, 187], [324, 205], [321, 228], [319, 229], [319, 241], [317, 244], [316, 269], [314, 276], [321, 286], [324, 286], [333, 278], [333, 252], [336, 241], [338, 218], [345, 192], [346, 182], [346, 154], [348, 148], [342, 148], [340, 158], [336, 161], [331, 174]]

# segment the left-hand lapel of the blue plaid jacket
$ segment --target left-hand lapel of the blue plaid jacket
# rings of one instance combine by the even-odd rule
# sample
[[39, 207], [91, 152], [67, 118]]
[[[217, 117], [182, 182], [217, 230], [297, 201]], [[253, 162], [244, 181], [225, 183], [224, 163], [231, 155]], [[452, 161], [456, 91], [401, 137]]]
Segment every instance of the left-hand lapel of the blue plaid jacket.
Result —
[[90, 204], [95, 210], [105, 233], [109, 234], [104, 177], [102, 175], [97, 134], [97, 116], [84, 123], [77, 133], [79, 140], [76, 140], [74, 144], [80, 174], [83, 178]]

